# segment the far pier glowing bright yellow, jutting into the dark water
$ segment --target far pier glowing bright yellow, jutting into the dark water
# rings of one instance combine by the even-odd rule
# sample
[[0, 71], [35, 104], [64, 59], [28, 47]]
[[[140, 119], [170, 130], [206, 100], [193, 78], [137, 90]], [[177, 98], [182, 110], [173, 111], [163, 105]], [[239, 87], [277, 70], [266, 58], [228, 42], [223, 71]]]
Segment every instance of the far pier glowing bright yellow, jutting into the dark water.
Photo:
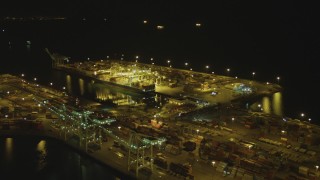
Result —
[[281, 91], [278, 84], [176, 69], [122, 60], [97, 60], [71, 63], [67, 57], [48, 51], [53, 68], [82, 74], [96, 80], [141, 92], [192, 99], [207, 105], [236, 99], [271, 95]]

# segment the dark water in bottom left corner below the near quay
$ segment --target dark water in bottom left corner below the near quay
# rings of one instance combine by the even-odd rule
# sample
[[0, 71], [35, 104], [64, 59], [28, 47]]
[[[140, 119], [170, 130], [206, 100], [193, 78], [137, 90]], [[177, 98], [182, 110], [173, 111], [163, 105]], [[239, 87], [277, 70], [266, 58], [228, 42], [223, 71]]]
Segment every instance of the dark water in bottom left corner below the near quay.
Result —
[[0, 137], [3, 180], [115, 180], [124, 175], [53, 139]]

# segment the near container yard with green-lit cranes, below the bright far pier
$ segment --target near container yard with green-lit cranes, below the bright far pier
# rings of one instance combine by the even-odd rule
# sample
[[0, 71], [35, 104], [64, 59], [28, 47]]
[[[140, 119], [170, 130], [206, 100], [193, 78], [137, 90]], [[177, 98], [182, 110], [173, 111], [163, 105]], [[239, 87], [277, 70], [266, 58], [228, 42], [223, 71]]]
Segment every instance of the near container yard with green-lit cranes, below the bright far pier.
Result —
[[[102, 111], [97, 102], [78, 102], [63, 91], [16, 76], [1, 75], [0, 83], [2, 135], [53, 137], [133, 178], [320, 176], [320, 128], [266, 113], [262, 108], [267, 108], [267, 102], [243, 109], [234, 103], [210, 106], [215, 102], [167, 96], [156, 107], [121, 100]], [[211, 96], [224, 93], [219, 90]], [[160, 96], [155, 94], [155, 99]]]

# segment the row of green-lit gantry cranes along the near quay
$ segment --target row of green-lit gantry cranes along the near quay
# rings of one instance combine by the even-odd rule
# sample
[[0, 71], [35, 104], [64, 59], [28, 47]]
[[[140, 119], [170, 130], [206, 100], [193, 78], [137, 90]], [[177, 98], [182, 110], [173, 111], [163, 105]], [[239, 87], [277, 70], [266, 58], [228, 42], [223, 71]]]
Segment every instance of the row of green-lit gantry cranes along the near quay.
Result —
[[89, 116], [92, 114], [91, 111], [77, 111], [65, 104], [55, 105], [57, 102], [49, 102], [49, 100], [37, 98], [33, 98], [33, 100], [58, 117], [58, 121], [53, 123], [58, 127], [59, 135], [65, 141], [69, 137], [76, 136], [79, 139], [80, 148], [84, 148], [86, 152], [89, 144], [98, 145], [101, 149], [101, 133], [103, 132], [128, 150], [128, 171], [133, 171], [136, 177], [139, 176], [140, 169], [153, 171], [154, 146], [161, 146], [166, 141], [165, 138], [155, 139], [132, 130], [129, 140], [124, 140], [114, 134], [112, 130], [104, 127], [104, 125], [115, 122], [115, 119], [98, 120]]

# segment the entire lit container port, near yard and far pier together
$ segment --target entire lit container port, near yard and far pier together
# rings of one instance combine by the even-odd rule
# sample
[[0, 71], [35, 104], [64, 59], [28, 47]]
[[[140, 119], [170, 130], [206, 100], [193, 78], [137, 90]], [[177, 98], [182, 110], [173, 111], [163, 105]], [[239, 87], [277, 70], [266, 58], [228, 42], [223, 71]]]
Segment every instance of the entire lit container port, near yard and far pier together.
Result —
[[100, 98], [116, 106], [102, 110], [4, 74], [0, 134], [62, 140], [133, 179], [320, 179], [320, 128], [253, 103], [281, 91], [277, 84], [121, 60], [71, 63], [47, 52], [55, 69], [148, 94], [157, 105], [110, 95]]

